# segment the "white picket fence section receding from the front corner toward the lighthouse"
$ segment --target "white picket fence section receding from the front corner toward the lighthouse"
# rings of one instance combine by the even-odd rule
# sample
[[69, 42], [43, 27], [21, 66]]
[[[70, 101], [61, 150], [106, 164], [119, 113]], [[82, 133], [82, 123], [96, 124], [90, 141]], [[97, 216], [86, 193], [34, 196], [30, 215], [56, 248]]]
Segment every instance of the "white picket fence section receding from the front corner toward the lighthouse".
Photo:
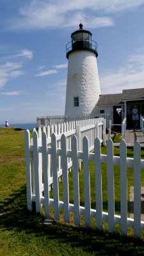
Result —
[[[76, 125], [77, 124], [77, 125]], [[75, 126], [76, 125], [76, 126]], [[44, 127], [45, 131], [45, 127]], [[77, 122], [67, 122], [67, 124], [58, 124], [58, 125], [52, 125], [51, 127], [47, 127], [47, 147], [51, 147], [51, 134], [56, 134], [56, 143], [57, 147], [61, 148], [61, 135], [65, 134], [67, 138], [67, 150], [72, 149], [72, 136], [75, 134], [77, 137], [77, 148], [79, 151], [83, 150], [83, 137], [87, 136], [89, 139], [89, 152], [92, 152], [94, 149], [94, 140], [95, 138], [100, 139], [100, 143], [103, 143], [105, 145], [106, 143], [106, 120], [104, 118], [97, 118], [92, 120], [79, 120]], [[31, 167], [32, 170], [32, 177], [33, 177], [33, 193], [35, 194], [35, 170], [36, 170], [36, 164], [40, 165], [41, 168], [41, 176], [40, 180], [42, 180], [42, 154], [40, 152], [36, 153], [35, 150], [31, 150], [31, 148], [37, 148], [42, 147], [42, 130], [38, 128], [38, 134], [36, 133], [36, 130], [33, 129], [33, 138], [30, 139], [27, 138], [25, 140], [26, 146], [26, 154], [31, 152]], [[35, 136], [37, 136], [35, 138]], [[27, 155], [26, 155], [27, 156]], [[38, 161], [35, 163], [35, 157], [38, 157]], [[28, 158], [29, 161], [29, 158]], [[27, 163], [27, 158], [26, 158]], [[71, 172], [72, 169], [72, 159], [71, 157], [68, 157], [67, 159], [68, 164], [68, 172]], [[81, 161], [78, 162], [79, 169], [81, 169]], [[51, 189], [51, 186], [53, 184], [53, 178], [52, 178], [52, 171], [51, 171], [51, 156], [49, 154], [48, 156], [48, 172], [49, 172], [49, 189]], [[61, 157], [58, 157], [58, 179], [61, 180], [62, 175], [62, 166], [61, 166]], [[44, 191], [44, 185], [42, 186], [42, 189]]]

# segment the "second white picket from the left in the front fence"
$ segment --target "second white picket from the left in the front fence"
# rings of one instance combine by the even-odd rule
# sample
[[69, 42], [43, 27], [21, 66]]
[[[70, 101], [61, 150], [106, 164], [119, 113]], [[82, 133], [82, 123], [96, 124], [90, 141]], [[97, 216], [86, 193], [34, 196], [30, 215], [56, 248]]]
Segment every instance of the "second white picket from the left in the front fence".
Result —
[[36, 212], [41, 212], [40, 195], [42, 184], [40, 182], [40, 168], [38, 156], [38, 134], [33, 132], [33, 157], [34, 157], [34, 170], [35, 170], [35, 196], [36, 196]]

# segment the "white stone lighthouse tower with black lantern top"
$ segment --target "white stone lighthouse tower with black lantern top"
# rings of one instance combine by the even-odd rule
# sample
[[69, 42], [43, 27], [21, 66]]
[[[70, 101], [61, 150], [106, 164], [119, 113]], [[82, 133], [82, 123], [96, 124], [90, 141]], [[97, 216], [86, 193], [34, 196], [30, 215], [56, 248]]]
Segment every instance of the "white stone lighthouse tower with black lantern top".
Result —
[[92, 33], [84, 30], [82, 24], [71, 38], [66, 46], [68, 74], [65, 115], [95, 115], [100, 95], [97, 42], [92, 40]]

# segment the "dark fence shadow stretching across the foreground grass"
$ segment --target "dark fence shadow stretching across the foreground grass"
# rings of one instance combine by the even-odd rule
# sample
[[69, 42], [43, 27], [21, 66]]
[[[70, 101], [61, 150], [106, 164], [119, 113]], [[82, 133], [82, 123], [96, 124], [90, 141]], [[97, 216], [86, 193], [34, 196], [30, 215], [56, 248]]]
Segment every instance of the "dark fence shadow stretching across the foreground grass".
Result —
[[[53, 241], [68, 244], [70, 248], [81, 248], [84, 253], [93, 255], [143, 255], [144, 242], [133, 237], [120, 236], [109, 232], [100, 232], [94, 228], [76, 227], [54, 221], [49, 227], [42, 225], [44, 216], [29, 212], [26, 205], [26, 187], [11, 195], [10, 200], [2, 202], [7, 207], [6, 214], [0, 217], [0, 228], [15, 229], [16, 232], [33, 234], [42, 243]], [[45, 243], [44, 243], [45, 246]], [[99, 253], [99, 254], [98, 254]], [[138, 253], [138, 254], [137, 254]]]

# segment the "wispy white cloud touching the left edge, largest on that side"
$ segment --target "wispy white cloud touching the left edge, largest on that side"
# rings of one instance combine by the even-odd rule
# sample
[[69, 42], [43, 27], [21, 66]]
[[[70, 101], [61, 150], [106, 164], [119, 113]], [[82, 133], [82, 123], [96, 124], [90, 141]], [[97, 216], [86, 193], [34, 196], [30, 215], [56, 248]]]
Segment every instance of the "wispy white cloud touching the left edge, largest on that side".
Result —
[[0, 88], [2, 88], [10, 79], [24, 74], [22, 70], [17, 70], [20, 67], [22, 67], [21, 63], [12, 62], [0, 65]]

